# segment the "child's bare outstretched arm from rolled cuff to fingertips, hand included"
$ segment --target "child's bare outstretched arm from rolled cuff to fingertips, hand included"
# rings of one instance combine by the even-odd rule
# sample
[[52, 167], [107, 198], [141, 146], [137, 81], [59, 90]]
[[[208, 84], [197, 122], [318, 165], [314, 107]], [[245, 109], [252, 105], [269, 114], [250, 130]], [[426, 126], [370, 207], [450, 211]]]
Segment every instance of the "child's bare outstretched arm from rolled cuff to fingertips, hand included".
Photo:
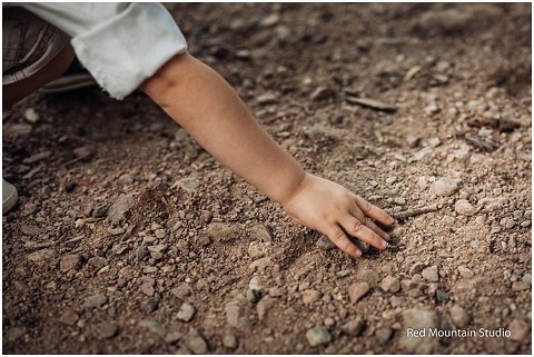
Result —
[[332, 181], [306, 173], [256, 122], [235, 90], [211, 68], [178, 54], [141, 89], [222, 165], [257, 187], [297, 222], [316, 229], [350, 256], [347, 234], [385, 249], [386, 232], [372, 219], [386, 212]]

